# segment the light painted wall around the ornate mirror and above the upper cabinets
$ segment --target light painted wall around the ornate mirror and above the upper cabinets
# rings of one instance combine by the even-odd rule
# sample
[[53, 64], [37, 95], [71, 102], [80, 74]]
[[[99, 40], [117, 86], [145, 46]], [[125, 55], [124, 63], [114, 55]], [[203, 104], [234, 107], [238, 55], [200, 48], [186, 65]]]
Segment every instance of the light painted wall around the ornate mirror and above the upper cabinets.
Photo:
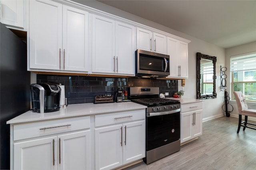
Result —
[[[216, 45], [207, 43], [205, 41], [202, 41], [190, 35], [181, 33], [174, 29], [170, 29], [158, 23], [145, 20], [143, 18], [140, 18], [133, 14], [129, 14], [117, 8], [108, 6], [106, 4], [102, 4], [98, 1], [91, 1], [91, 0], [90, 1], [74, 0], [74, 1], [78, 3], [83, 3], [86, 6], [90, 6], [92, 8], [95, 8], [104, 12], [108, 12], [110, 14], [113, 14], [122, 18], [126, 18], [128, 20], [135, 21], [135, 22], [153, 27], [155, 29], [159, 29], [161, 31], [165, 31], [167, 33], [171, 33], [173, 35], [190, 40], [191, 42], [188, 44], [188, 63], [189, 63], [188, 76], [189, 78], [186, 79], [186, 85], [184, 87], [185, 93], [183, 96], [184, 98], [196, 98], [196, 53], [200, 52], [202, 54], [216, 56], [217, 57], [217, 63], [216, 63], [217, 98], [207, 99], [203, 102], [204, 110], [203, 110], [202, 117], [203, 117], [203, 120], [208, 120], [208, 119], [212, 119], [212, 118], [224, 115], [224, 112], [222, 112], [222, 109], [221, 109], [222, 104], [224, 104], [224, 92], [220, 91], [220, 65], [225, 66], [225, 49], [217, 47]], [[181, 80], [179, 80], [179, 90], [182, 89], [181, 84], [182, 84]]]

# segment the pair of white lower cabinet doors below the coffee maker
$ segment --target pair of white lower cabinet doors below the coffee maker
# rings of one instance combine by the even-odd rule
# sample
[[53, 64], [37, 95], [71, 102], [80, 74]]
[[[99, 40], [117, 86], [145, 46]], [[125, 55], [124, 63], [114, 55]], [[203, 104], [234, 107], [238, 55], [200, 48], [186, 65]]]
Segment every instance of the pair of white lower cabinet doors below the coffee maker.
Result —
[[90, 170], [90, 131], [14, 143], [14, 169]]

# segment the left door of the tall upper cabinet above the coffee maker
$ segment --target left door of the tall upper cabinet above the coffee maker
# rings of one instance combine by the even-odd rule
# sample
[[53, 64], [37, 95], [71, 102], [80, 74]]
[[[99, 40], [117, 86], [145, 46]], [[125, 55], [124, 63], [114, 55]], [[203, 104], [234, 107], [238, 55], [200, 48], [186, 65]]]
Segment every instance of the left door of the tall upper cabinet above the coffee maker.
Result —
[[30, 68], [60, 70], [62, 4], [30, 1]]

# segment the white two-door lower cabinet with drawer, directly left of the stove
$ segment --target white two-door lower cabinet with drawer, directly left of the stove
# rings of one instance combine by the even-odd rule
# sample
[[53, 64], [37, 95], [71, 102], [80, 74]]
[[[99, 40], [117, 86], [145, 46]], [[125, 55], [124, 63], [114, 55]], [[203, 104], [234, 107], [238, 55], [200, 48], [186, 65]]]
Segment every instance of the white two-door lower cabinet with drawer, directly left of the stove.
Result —
[[[102, 121], [100, 119], [105, 122], [98, 123]], [[140, 120], [134, 121], [136, 119]], [[109, 124], [95, 129], [96, 170], [110, 170], [145, 157], [144, 109], [138, 113], [128, 111], [102, 117], [99, 115], [95, 118], [95, 124]]]

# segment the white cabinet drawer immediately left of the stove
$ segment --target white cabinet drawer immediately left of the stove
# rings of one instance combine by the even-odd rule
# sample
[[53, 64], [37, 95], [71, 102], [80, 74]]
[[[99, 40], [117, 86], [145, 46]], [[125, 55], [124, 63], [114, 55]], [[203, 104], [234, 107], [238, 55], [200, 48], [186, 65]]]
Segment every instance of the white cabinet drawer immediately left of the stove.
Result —
[[145, 109], [95, 115], [95, 127], [112, 125], [116, 123], [124, 123], [127, 121], [141, 120], [145, 119], [145, 116]]

